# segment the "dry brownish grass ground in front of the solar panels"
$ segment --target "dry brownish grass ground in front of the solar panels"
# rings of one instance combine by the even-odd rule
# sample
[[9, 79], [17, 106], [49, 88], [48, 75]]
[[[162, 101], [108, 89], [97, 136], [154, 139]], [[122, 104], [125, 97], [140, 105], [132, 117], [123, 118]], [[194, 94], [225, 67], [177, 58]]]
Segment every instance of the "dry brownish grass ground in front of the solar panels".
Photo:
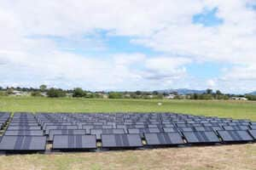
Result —
[[1, 170], [256, 170], [256, 144], [0, 156]]

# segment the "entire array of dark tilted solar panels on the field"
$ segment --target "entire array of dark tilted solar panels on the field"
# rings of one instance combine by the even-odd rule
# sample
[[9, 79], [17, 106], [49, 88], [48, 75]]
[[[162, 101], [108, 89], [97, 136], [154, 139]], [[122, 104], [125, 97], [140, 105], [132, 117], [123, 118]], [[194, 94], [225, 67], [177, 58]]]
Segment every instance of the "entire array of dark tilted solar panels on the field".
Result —
[[[9, 124], [8, 124], [9, 123]], [[0, 113], [0, 151], [110, 150], [256, 141], [256, 122], [175, 113]]]

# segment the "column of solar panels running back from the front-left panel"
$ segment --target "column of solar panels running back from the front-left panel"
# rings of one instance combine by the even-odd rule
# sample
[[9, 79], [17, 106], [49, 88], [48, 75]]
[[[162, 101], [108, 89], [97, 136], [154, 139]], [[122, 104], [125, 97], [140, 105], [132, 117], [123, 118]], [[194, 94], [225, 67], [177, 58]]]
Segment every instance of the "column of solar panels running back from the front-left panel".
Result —
[[9, 127], [3, 133], [0, 150], [41, 151], [45, 150], [46, 136], [31, 113], [15, 113]]

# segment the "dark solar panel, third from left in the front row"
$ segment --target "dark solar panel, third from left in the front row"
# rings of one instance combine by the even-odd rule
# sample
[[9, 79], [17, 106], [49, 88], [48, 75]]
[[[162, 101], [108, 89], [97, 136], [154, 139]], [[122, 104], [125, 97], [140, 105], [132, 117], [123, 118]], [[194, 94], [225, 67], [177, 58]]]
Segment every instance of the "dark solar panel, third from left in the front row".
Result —
[[102, 148], [137, 148], [143, 143], [139, 134], [102, 134]]

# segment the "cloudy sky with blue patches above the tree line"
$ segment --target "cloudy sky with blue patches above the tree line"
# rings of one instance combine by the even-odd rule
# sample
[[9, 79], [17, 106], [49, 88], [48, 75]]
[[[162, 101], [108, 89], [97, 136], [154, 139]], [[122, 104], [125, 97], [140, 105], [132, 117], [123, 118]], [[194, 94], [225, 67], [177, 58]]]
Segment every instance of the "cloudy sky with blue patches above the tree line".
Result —
[[0, 0], [0, 86], [256, 90], [255, 0]]

